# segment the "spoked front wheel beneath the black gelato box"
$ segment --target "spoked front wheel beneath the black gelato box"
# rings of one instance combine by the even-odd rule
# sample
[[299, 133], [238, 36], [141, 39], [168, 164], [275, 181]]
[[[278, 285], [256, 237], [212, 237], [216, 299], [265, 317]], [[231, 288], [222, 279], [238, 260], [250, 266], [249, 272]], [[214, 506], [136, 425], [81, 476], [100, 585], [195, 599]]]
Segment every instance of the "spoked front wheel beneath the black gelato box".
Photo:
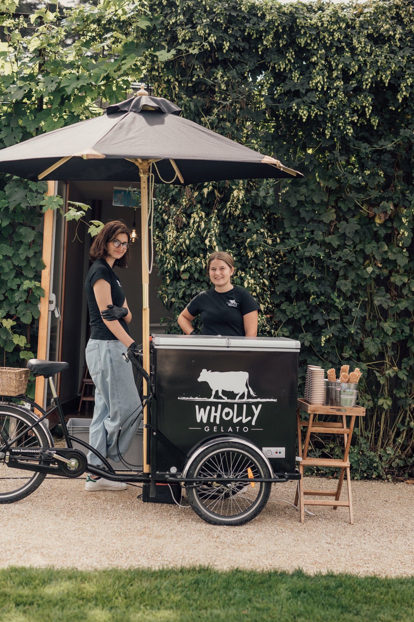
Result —
[[220, 483], [214, 478], [267, 478], [269, 467], [251, 447], [242, 443], [217, 443], [200, 453], [187, 477], [208, 478], [206, 483], [188, 484], [188, 503], [213, 525], [242, 525], [259, 514], [269, 499], [270, 482]]

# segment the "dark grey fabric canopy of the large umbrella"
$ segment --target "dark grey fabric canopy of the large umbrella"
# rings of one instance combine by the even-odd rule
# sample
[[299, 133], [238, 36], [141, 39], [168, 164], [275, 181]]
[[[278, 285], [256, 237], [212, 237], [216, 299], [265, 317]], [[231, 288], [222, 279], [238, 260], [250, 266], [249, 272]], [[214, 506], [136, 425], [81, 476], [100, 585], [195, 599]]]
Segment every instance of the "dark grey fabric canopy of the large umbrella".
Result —
[[180, 112], [163, 98], [143, 95], [122, 101], [99, 117], [1, 149], [0, 172], [32, 181], [133, 182], [137, 159], [145, 159], [156, 163], [155, 183], [302, 176], [277, 159], [178, 116]]

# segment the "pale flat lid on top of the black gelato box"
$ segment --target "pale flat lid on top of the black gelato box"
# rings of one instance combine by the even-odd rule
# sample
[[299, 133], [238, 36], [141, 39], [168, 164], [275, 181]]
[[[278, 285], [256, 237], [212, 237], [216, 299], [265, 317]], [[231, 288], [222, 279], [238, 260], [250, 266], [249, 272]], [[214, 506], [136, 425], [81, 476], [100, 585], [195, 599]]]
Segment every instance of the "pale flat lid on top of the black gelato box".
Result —
[[210, 335], [152, 335], [155, 347], [237, 348], [237, 350], [300, 350], [300, 341], [287, 337], [214, 337]]

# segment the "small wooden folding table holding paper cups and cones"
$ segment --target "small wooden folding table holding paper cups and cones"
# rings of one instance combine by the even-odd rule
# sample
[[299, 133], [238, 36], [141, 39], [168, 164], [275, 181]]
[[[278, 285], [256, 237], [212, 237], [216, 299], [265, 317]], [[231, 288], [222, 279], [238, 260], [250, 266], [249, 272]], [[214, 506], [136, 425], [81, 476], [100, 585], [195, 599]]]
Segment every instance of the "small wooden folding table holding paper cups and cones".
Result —
[[[300, 411], [308, 412], [309, 420], [303, 421], [300, 419]], [[318, 415], [334, 415], [339, 417], [341, 420], [338, 421], [321, 421], [318, 420]], [[349, 423], [349, 427], [346, 425], [346, 417], [351, 417], [351, 422]], [[333, 506], [333, 509], [338, 508], [338, 506], [344, 506], [349, 508], [349, 521], [351, 525], [354, 524], [354, 516], [352, 513], [352, 493], [351, 493], [351, 476], [349, 474], [349, 447], [351, 447], [351, 438], [352, 432], [354, 430], [354, 424], [356, 417], [364, 417], [365, 409], [361, 406], [354, 407], [343, 407], [343, 406], [320, 406], [319, 404], [310, 404], [306, 402], [304, 399], [298, 399], [298, 409], [297, 409], [297, 418], [298, 418], [298, 445], [299, 445], [299, 457], [302, 458], [299, 463], [299, 472], [301, 474], [301, 479], [298, 480], [298, 488], [295, 496], [295, 506], [298, 506], [298, 501], [300, 501], [300, 522], [305, 522], [305, 505], [324, 505], [324, 506]], [[302, 450], [302, 439], [301, 439], [301, 427], [307, 427], [305, 443], [303, 445]], [[309, 447], [309, 439], [311, 434], [343, 434], [344, 436], [344, 455], [341, 460], [336, 458], [308, 458], [308, 447]], [[303, 474], [305, 471], [305, 466], [329, 466], [329, 467], [338, 467], [341, 471], [339, 473], [339, 481], [338, 486], [335, 491], [324, 491], [324, 490], [305, 490], [303, 485]], [[342, 485], [344, 482], [344, 475], [346, 474], [346, 483], [348, 489], [348, 499], [347, 501], [340, 501], [339, 497], [341, 496]], [[325, 496], [325, 497], [334, 497], [333, 501], [331, 500], [320, 500], [320, 499], [307, 499], [305, 500], [305, 495], [307, 496]]]

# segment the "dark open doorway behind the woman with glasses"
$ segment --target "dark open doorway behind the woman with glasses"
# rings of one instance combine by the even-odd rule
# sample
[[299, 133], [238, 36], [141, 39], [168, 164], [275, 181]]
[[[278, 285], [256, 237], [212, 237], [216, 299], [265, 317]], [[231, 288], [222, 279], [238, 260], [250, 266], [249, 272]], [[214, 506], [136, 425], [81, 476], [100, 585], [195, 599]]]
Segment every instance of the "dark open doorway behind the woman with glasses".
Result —
[[[123, 220], [131, 229], [134, 208], [113, 205], [114, 187], [119, 182], [68, 182], [58, 188], [58, 194], [71, 201], [86, 203], [91, 209], [85, 220]], [[65, 205], [65, 202], [64, 202]], [[139, 208], [136, 220], [140, 222]], [[80, 385], [85, 365], [85, 347], [90, 337], [88, 305], [85, 294], [85, 280], [91, 263], [88, 251], [92, 238], [88, 234], [88, 224], [83, 221], [66, 221], [60, 214], [56, 216], [55, 246], [53, 248], [53, 274], [51, 290], [56, 295], [57, 309], [49, 312], [50, 344], [49, 359], [67, 361], [69, 369], [59, 374], [58, 394], [65, 414], [75, 411], [79, 405]], [[141, 239], [139, 230], [137, 241], [131, 244], [131, 261], [127, 270], [117, 267], [114, 271], [126, 292], [132, 321], [129, 324], [131, 336], [138, 342], [142, 340], [142, 285], [141, 285]], [[150, 274], [149, 305], [150, 331], [163, 333], [161, 318], [168, 316], [158, 297], [157, 289], [161, 280], [156, 271]], [[56, 314], [60, 317], [57, 317]], [[50, 397], [50, 396], [48, 396]], [[50, 401], [48, 400], [48, 403]], [[93, 408], [91, 409], [91, 412]]]

